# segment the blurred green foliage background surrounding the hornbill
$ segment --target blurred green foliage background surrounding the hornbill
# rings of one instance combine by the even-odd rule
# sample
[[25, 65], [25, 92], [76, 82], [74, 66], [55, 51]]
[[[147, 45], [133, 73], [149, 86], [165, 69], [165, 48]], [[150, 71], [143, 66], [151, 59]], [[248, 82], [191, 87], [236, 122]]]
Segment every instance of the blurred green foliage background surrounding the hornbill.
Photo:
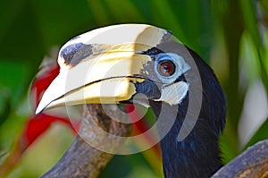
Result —
[[[172, 30], [212, 66], [228, 100], [221, 146], [224, 162], [229, 162], [268, 138], [267, 14], [266, 0], [1, 0], [0, 163], [34, 112], [29, 86], [44, 57], [80, 33], [118, 23]], [[54, 124], [8, 177], [45, 173], [71, 140], [70, 130]], [[116, 156], [101, 177], [161, 176], [161, 160], [154, 166], [149, 159], [142, 153]]]

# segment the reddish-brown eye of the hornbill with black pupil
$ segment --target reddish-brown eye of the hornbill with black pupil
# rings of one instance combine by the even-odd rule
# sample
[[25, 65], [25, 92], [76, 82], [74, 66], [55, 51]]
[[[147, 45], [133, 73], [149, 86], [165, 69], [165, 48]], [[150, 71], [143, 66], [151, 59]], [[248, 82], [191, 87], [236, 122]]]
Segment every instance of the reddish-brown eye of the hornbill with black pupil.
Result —
[[176, 66], [172, 63], [172, 61], [163, 59], [159, 62], [157, 71], [164, 77], [169, 77], [174, 74], [175, 68]]

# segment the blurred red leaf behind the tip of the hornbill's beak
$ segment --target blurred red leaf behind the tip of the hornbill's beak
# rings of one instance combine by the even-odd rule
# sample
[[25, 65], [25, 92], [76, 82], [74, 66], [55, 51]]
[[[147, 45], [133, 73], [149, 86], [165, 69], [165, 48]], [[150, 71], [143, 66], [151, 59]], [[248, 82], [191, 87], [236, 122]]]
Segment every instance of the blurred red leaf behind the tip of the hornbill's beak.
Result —
[[[42, 94], [48, 88], [50, 83], [54, 81], [54, 78], [59, 74], [59, 71], [60, 67], [57, 64], [48, 64], [41, 69], [39, 76], [33, 82], [31, 88], [31, 97], [34, 108], [38, 106]], [[25, 128], [21, 137], [14, 143], [9, 157], [6, 157], [3, 165], [0, 167], [0, 175], [9, 173], [21, 159], [21, 155], [24, 151], [55, 122], [65, 124], [71, 128], [71, 131], [75, 134], [80, 127], [80, 122], [72, 125], [69, 119], [59, 116], [38, 114], [30, 117], [27, 123], [25, 123]]]

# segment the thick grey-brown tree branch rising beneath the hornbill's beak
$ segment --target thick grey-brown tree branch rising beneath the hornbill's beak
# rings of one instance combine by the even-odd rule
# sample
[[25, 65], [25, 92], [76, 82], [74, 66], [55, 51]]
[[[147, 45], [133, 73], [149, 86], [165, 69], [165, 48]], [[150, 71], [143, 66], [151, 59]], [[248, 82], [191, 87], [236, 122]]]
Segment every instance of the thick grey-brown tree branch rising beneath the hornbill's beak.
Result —
[[112, 151], [119, 148], [122, 143], [111, 139], [109, 135], [104, 137], [99, 134], [96, 131], [96, 124], [111, 135], [125, 137], [130, 134], [130, 124], [113, 121], [107, 114], [113, 115], [113, 118], [126, 116], [115, 105], [106, 105], [105, 111], [101, 105], [85, 105], [80, 134], [57, 164], [42, 178], [97, 177], [113, 155], [92, 147], [87, 143], [88, 140], [98, 140], [101, 148]]

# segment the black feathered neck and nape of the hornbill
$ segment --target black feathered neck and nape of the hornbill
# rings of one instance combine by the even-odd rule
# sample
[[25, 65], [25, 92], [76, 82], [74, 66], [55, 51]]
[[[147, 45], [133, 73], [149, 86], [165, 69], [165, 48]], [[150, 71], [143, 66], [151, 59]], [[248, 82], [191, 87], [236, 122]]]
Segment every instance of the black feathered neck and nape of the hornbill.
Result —
[[[156, 118], [176, 117], [172, 129], [161, 140], [163, 173], [166, 178], [210, 177], [221, 166], [219, 137], [226, 117], [226, 104], [222, 88], [214, 72], [194, 52], [189, 50], [202, 81], [202, 106], [197, 123], [185, 140], [178, 134], [188, 108], [188, 95], [176, 106], [162, 102], [150, 102]], [[164, 110], [161, 109], [164, 106]], [[187, 122], [187, 121], [186, 121]], [[161, 131], [162, 125], [158, 125]]]

